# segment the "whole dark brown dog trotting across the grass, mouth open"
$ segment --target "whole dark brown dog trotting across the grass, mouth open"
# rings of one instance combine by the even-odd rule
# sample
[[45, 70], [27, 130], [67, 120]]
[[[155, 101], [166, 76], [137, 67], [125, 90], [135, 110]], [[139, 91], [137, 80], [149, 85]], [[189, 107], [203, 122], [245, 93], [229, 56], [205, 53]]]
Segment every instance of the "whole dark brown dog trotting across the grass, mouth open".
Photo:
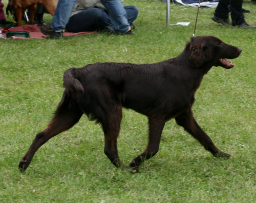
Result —
[[135, 171], [158, 152], [163, 127], [171, 118], [214, 156], [229, 157], [200, 128], [191, 108], [204, 74], [212, 66], [232, 68], [225, 58], [237, 58], [241, 51], [214, 36], [197, 36], [180, 55], [156, 64], [96, 63], [68, 69], [63, 75], [66, 89], [55, 115], [47, 128], [37, 133], [19, 163], [20, 171], [27, 169], [39, 147], [73, 127], [82, 114], [101, 124], [104, 153], [116, 167], [123, 166], [117, 153], [122, 107], [148, 117], [147, 147], [130, 164]]

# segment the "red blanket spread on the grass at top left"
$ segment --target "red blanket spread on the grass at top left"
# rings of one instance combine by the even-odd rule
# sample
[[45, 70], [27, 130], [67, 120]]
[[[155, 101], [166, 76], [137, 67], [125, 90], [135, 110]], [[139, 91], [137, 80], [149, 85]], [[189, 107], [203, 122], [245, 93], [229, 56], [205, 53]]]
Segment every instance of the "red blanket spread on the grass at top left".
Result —
[[[42, 38], [47, 38], [48, 36], [46, 36], [45, 34], [42, 34], [40, 32], [40, 28], [37, 27], [37, 25], [23, 25], [20, 27], [14, 27], [14, 28], [10, 28], [8, 29], [4, 29], [0, 27], [0, 30], [4, 30], [4, 32], [2, 33], [2, 35], [6, 36], [6, 32], [8, 31], [29, 31], [29, 36], [30, 38], [36, 38], [36, 39], [42, 39]], [[82, 35], [82, 34], [95, 34], [97, 32], [64, 32], [63, 36], [74, 36], [74, 35]], [[28, 39], [28, 38], [24, 38], [24, 37], [9, 37], [9, 39]]]

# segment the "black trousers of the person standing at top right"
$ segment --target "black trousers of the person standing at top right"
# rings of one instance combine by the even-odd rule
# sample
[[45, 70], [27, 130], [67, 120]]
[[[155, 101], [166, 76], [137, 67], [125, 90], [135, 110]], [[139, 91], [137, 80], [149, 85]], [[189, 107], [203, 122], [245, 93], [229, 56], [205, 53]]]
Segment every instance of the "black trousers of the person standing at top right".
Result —
[[230, 11], [232, 25], [240, 25], [245, 22], [242, 5], [243, 0], [220, 0], [214, 15], [226, 19]]

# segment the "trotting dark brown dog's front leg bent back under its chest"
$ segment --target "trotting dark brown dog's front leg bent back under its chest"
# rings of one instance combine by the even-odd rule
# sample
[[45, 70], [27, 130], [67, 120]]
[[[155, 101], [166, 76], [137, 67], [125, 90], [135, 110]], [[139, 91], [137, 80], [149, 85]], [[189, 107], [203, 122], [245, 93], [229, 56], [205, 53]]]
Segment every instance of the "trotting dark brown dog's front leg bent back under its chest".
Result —
[[156, 155], [156, 153], [159, 150], [160, 145], [160, 139], [161, 134], [164, 128], [166, 120], [162, 117], [154, 116], [154, 117], [148, 117], [148, 125], [149, 125], [149, 135], [148, 135], [148, 144], [143, 153], [138, 155], [136, 158], [132, 160], [130, 163], [130, 167], [134, 170], [138, 171], [138, 167], [141, 165], [141, 163], [153, 156]]

